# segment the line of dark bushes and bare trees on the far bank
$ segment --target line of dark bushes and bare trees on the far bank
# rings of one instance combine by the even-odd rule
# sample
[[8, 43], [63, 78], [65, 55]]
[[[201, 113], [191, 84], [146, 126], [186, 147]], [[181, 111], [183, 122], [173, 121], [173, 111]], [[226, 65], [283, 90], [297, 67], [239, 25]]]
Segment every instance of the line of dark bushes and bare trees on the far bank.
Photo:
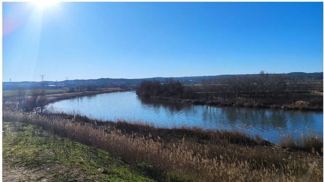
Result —
[[163, 96], [186, 99], [195, 99], [203, 95], [208, 99], [213, 97], [290, 99], [297, 86], [296, 79], [287, 80], [285, 75], [261, 71], [255, 75], [205, 80], [199, 89], [190, 85], [184, 86], [181, 82], [173, 80], [167, 80], [165, 83], [142, 81], [136, 94], [140, 97]]

